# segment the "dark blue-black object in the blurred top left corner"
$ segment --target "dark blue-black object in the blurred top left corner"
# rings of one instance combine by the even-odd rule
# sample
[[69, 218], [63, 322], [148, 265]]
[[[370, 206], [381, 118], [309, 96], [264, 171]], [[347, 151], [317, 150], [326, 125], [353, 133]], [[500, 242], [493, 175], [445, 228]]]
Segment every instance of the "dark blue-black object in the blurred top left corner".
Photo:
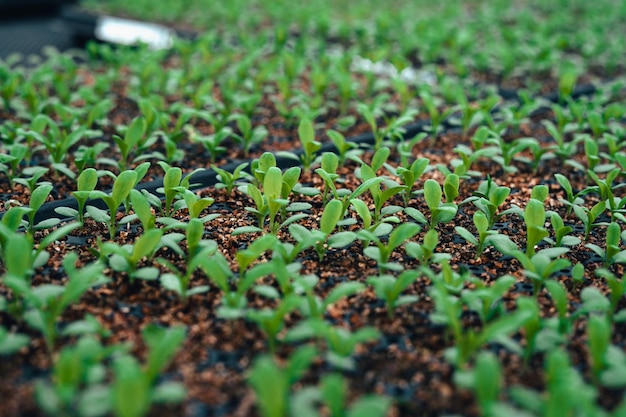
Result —
[[45, 46], [79, 46], [59, 14], [74, 0], [0, 0], [0, 59], [19, 52], [40, 54]]

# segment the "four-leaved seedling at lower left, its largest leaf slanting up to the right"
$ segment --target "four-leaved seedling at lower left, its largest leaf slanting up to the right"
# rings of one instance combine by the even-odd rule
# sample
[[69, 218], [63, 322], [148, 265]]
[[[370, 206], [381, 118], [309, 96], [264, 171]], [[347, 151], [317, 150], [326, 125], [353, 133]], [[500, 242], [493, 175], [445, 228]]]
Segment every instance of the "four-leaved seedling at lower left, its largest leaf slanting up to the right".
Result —
[[137, 268], [140, 261], [147, 257], [152, 259], [155, 252], [161, 247], [163, 231], [161, 229], [146, 230], [133, 244], [119, 246], [113, 242], [100, 245], [101, 256], [109, 256], [109, 265], [115, 271], [126, 272], [131, 283], [135, 279], [154, 280], [159, 276], [155, 267]]

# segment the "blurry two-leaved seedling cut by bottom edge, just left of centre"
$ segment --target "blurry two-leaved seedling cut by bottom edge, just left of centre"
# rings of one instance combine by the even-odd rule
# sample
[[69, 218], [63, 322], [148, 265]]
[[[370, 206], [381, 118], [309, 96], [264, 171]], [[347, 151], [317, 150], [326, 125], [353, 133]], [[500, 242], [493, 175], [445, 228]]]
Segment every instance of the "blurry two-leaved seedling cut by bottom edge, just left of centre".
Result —
[[248, 382], [256, 393], [263, 417], [288, 416], [291, 387], [304, 376], [316, 356], [314, 347], [304, 346], [296, 350], [283, 367], [267, 355], [254, 360]]

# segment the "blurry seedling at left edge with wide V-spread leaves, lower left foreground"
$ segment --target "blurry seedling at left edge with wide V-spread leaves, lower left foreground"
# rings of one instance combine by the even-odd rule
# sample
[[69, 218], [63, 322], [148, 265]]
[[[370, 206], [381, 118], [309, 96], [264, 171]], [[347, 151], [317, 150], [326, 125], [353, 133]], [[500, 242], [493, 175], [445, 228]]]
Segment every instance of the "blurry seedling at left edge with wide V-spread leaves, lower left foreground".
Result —
[[77, 302], [89, 288], [109, 281], [102, 274], [102, 264], [94, 263], [77, 270], [74, 266], [77, 257], [70, 253], [63, 260], [63, 268], [68, 276], [64, 286], [43, 284], [31, 287], [27, 280], [14, 275], [3, 279], [4, 284], [30, 307], [24, 313], [24, 318], [29, 326], [43, 334], [50, 353], [54, 350], [58, 334], [57, 321], [65, 309]]

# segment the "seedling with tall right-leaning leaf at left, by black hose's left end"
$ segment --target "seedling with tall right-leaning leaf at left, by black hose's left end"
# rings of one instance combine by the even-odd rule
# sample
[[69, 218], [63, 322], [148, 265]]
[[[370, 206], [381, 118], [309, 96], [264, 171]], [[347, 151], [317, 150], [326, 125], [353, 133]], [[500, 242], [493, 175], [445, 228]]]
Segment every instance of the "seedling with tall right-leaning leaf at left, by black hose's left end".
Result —
[[123, 171], [115, 179], [110, 194], [99, 190], [92, 191], [89, 194], [91, 198], [102, 199], [109, 209], [109, 212], [106, 213], [104, 210], [100, 210], [94, 206], [87, 206], [87, 213], [89, 213], [94, 220], [108, 223], [110, 239], [115, 237], [117, 231], [117, 209], [130, 195], [130, 190], [135, 187], [137, 177], [138, 174], [135, 171]]

